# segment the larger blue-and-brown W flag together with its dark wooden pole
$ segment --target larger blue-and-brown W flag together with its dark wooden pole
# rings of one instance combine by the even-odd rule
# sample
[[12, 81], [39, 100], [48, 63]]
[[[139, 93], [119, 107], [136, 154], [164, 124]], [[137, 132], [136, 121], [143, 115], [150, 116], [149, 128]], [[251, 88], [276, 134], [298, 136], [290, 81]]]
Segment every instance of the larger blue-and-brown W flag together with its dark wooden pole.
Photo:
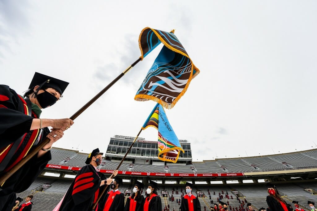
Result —
[[[121, 77], [123, 77], [130, 69], [132, 69], [137, 63], [142, 61], [145, 56], [147, 56], [154, 48], [156, 48], [160, 43], [164, 44], [164, 51], [161, 51], [159, 54], [159, 59], [164, 55], [164, 53], [169, 55], [169, 61], [172, 63], [169, 63], [168, 61], [164, 61], [165, 64], [169, 67], [175, 67], [177, 71], [168, 71], [168, 74], [170, 76], [159, 76], [159, 78], [162, 78], [161, 81], [155, 81], [154, 85], [150, 85], [153, 88], [153, 91], [150, 90], [141, 90], [143, 89], [144, 85], [141, 85], [141, 89], [138, 91], [138, 95], [136, 95], [135, 99], [138, 101], [146, 101], [146, 100], [154, 100], [152, 97], [149, 97], [149, 94], [152, 92], [158, 93], [158, 85], [163, 85], [165, 87], [165, 90], [162, 90], [157, 94], [164, 95], [165, 101], [161, 101], [161, 104], [167, 106], [168, 108], [172, 108], [176, 102], [179, 100], [181, 96], [184, 95], [184, 92], [187, 90], [189, 82], [192, 78], [197, 76], [199, 73], [199, 70], [193, 65], [191, 62], [189, 56], [187, 55], [184, 47], [179, 43], [177, 37], [173, 34], [174, 30], [171, 32], [165, 32], [161, 30], [155, 30], [151, 29], [149, 27], [144, 28], [139, 36], [139, 47], [141, 50], [141, 56], [133, 62], [128, 68], [126, 68], [119, 76], [117, 76], [112, 82], [110, 82], [104, 89], [102, 89], [96, 96], [94, 96], [90, 101], [88, 101], [81, 109], [79, 109], [76, 113], [74, 113], [69, 119], [75, 120], [79, 115], [81, 115], [82, 112], [84, 112], [91, 104], [93, 104], [100, 96], [102, 96], [110, 87], [112, 87], [113, 84], [115, 84], [118, 80], [120, 80]], [[168, 48], [170, 51], [165, 49]], [[177, 53], [174, 57], [175, 59], [171, 59], [171, 56], [173, 56], [173, 52]], [[184, 63], [184, 61], [185, 63]], [[180, 62], [182, 61], [182, 62]], [[176, 63], [174, 63], [176, 62]], [[177, 64], [177, 65], [175, 65]], [[182, 65], [182, 66], [179, 66]], [[184, 65], [183, 65], [184, 64]], [[182, 68], [182, 67], [185, 67]], [[157, 71], [155, 71], [157, 72]], [[148, 74], [151, 73], [151, 71], [148, 72]], [[158, 72], [159, 73], [159, 72]], [[152, 76], [154, 76], [152, 74]], [[152, 79], [154, 79], [151, 76], [150, 80], [145, 80], [144, 82], [150, 82], [152, 83]], [[148, 77], [147, 77], [148, 78]], [[168, 86], [165, 85], [165, 83], [174, 83], [177, 84], [176, 86], [173, 85], [173, 89], [175, 90], [175, 94], [169, 99], [170, 94], [167, 92]], [[160, 86], [159, 85], [159, 86]], [[167, 88], [167, 89], [166, 89]], [[173, 91], [172, 91], [173, 92]], [[162, 97], [161, 97], [162, 98]], [[159, 99], [159, 98], [158, 98]], [[163, 99], [163, 98], [162, 98]], [[72, 122], [70, 122], [72, 123]], [[70, 125], [69, 125], [70, 126]], [[68, 127], [69, 128], [69, 127]], [[66, 128], [65, 128], [66, 129]], [[19, 162], [16, 163], [16, 165], [11, 168], [10, 170], [6, 171], [3, 175], [0, 176], [0, 184], [3, 184], [7, 179], [9, 179], [16, 171], [18, 171], [20, 168], [22, 168], [33, 156], [35, 156], [45, 145], [49, 143], [50, 139], [45, 138], [40, 144], [38, 144], [35, 148], [30, 150], [28, 154], [23, 157]]]

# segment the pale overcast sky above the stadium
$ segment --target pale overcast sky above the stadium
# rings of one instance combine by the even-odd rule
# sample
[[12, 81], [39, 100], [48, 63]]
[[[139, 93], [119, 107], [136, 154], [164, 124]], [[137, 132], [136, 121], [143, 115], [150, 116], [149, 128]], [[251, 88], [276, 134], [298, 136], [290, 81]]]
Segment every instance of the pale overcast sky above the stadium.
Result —
[[[0, 83], [35, 71], [70, 82], [42, 118], [73, 115], [140, 56], [145, 27], [175, 29], [200, 69], [166, 115], [193, 161], [316, 148], [316, 1], [0, 1]], [[155, 102], [134, 95], [162, 44], [53, 146], [105, 152], [137, 135]], [[140, 135], [157, 140], [155, 129]], [[296, 150], [295, 150], [296, 149]]]

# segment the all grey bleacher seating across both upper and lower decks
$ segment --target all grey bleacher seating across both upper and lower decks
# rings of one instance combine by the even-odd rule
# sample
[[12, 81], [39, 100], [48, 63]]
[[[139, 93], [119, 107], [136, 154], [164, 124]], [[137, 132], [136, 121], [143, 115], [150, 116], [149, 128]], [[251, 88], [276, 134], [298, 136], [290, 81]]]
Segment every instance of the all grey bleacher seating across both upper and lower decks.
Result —
[[[84, 162], [86, 161], [87, 154], [79, 153], [75, 150], [67, 150], [61, 148], [52, 148], [52, 157], [53, 159], [49, 162], [49, 164], [53, 165], [64, 165], [64, 166], [72, 166], [72, 167], [83, 167], [86, 165]], [[99, 169], [108, 169], [114, 170], [118, 166], [118, 162], [112, 162], [109, 160], [103, 160], [104, 165], [98, 167]], [[227, 158], [227, 159], [216, 159], [209, 160], [203, 162], [193, 162], [188, 165], [169, 165], [167, 164], [168, 170], [165, 170], [165, 166], [157, 166], [150, 164], [137, 164], [133, 163], [133, 168], [131, 169], [131, 163], [122, 163], [119, 170], [121, 171], [134, 171], [134, 172], [153, 172], [153, 173], [238, 173], [238, 172], [268, 172], [268, 171], [287, 171], [287, 170], [301, 170], [305, 168], [317, 168], [317, 150], [307, 150], [302, 152], [294, 152], [288, 154], [280, 154], [280, 155], [266, 155], [266, 156], [257, 156], [257, 157], [243, 157], [243, 158]], [[49, 171], [53, 171], [54, 169], [48, 169]], [[59, 171], [56, 170], [58, 173]], [[140, 179], [140, 177], [139, 177]], [[150, 178], [151, 179], [151, 178]], [[194, 178], [192, 178], [194, 179]], [[183, 179], [184, 180], [184, 179]], [[49, 184], [49, 188], [44, 191], [39, 191], [34, 193], [34, 199], [32, 202], [34, 203], [32, 210], [34, 211], [48, 211], [53, 210], [53, 208], [57, 205], [57, 203], [61, 200], [61, 198], [66, 193], [68, 187], [70, 186], [72, 179], [67, 178], [53, 178], [53, 177], [45, 177], [39, 176], [32, 185], [22, 193], [18, 193], [18, 197], [25, 197], [29, 194], [34, 193], [34, 190], [43, 184]], [[292, 200], [299, 201], [300, 205], [306, 209], [308, 209], [307, 201], [317, 202], [317, 195], [312, 195], [307, 192], [305, 189], [311, 188], [317, 191], [317, 181], [285, 181], [285, 182], [275, 182], [276, 187], [284, 200], [288, 203], [291, 203]], [[176, 194], [174, 191], [173, 196], [175, 201], [169, 201], [169, 196], [172, 195], [172, 189], [179, 191], [179, 194]], [[162, 196], [162, 190], [166, 190], [168, 193], [168, 197], [161, 197], [162, 208], [165, 205], [170, 206], [170, 211], [175, 209], [175, 211], [179, 210], [179, 205], [176, 202], [176, 199], [180, 199], [182, 192], [181, 188], [183, 188], [183, 192], [185, 191], [184, 185], [182, 184], [162, 184], [159, 187], [158, 194]], [[120, 191], [125, 193], [127, 189], [132, 189], [131, 184], [124, 184], [121, 186]], [[201, 208], [204, 210], [204, 206], [209, 210], [210, 206], [213, 206], [210, 203], [210, 198], [208, 194], [208, 189], [210, 191], [211, 200], [214, 203], [217, 202], [217, 197], [219, 197], [218, 193], [222, 193], [223, 202], [229, 201], [229, 206], [232, 208], [239, 207], [240, 203], [236, 199], [236, 194], [239, 193], [239, 198], [241, 201], [246, 200], [249, 203], [259, 209], [261, 207], [267, 208], [266, 196], [268, 195], [267, 189], [263, 186], [263, 184], [197, 184], [194, 186], [193, 194], [197, 196], [197, 191], [204, 193], [205, 198], [199, 198], [201, 203]], [[216, 195], [213, 195], [213, 191], [215, 191]], [[229, 196], [233, 196], [233, 199], [229, 197], [229, 199], [225, 198], [226, 191], [228, 191]], [[143, 195], [145, 192], [143, 191]], [[127, 198], [128, 196], [126, 196]], [[228, 210], [229, 209], [228, 206]], [[246, 203], [244, 208], [246, 207]], [[232, 209], [231, 209], [232, 210]]]

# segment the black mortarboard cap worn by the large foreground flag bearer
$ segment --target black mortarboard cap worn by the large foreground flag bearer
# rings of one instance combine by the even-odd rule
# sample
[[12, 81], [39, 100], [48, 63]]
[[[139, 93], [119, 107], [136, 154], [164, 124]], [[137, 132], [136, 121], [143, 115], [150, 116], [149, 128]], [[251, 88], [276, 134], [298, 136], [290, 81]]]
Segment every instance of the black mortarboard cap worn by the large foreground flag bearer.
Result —
[[35, 86], [40, 86], [39, 89], [36, 90], [35, 96], [40, 89], [53, 88], [58, 91], [61, 95], [65, 91], [68, 86], [68, 82], [59, 80], [57, 78], [53, 78], [51, 76], [47, 76], [38, 72], [35, 72], [33, 79], [30, 83], [29, 89], [34, 89]]

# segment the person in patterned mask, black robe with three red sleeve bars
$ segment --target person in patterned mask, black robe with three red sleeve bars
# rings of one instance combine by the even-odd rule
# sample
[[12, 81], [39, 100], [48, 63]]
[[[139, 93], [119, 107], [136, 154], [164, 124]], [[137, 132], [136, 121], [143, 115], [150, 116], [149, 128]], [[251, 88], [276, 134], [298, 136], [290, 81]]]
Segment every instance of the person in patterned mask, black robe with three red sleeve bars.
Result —
[[[110, 184], [113, 179], [101, 180], [96, 167], [102, 161], [103, 153], [99, 148], [94, 149], [87, 157], [86, 166], [81, 168], [74, 181], [69, 186], [60, 207], [54, 210], [59, 211], [91, 211], [93, 204], [97, 201], [99, 188], [104, 184]], [[117, 175], [117, 171], [113, 172]]]

